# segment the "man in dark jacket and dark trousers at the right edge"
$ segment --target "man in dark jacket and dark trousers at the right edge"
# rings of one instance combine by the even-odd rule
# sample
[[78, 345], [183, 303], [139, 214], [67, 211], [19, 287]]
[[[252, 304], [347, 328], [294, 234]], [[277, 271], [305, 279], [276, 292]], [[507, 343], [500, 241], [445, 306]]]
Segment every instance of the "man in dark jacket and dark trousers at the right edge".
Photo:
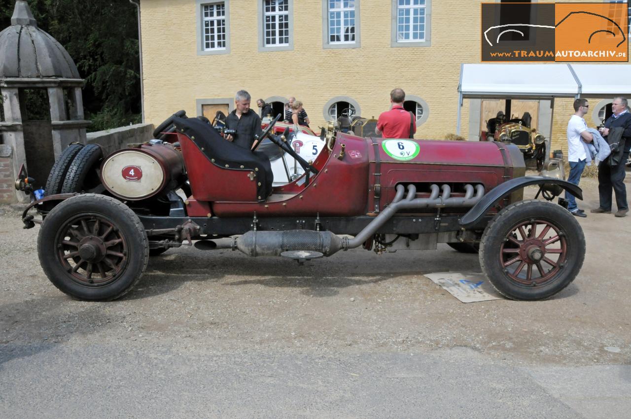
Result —
[[627, 110], [627, 99], [623, 97], [613, 98], [611, 110], [613, 115], [608, 117], [604, 122], [604, 128], [601, 128], [601, 134], [607, 139], [610, 129], [622, 127], [622, 139], [620, 139], [620, 147], [623, 150], [622, 158], [618, 164], [611, 166], [610, 160], [606, 159], [598, 165], [598, 194], [600, 198], [600, 206], [591, 212], [611, 213], [611, 189], [616, 194], [616, 204], [618, 212], [616, 217], [627, 215], [629, 206], [627, 203], [627, 188], [625, 187], [625, 163], [631, 149], [631, 114]]

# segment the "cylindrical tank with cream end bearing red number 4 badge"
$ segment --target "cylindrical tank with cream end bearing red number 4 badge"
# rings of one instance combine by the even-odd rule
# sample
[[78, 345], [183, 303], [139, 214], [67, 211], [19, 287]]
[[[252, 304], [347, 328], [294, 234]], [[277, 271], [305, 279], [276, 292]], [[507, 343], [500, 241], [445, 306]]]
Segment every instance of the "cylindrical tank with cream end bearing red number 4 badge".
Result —
[[140, 144], [114, 151], [103, 160], [101, 182], [118, 198], [151, 198], [184, 182], [182, 153], [168, 144]]

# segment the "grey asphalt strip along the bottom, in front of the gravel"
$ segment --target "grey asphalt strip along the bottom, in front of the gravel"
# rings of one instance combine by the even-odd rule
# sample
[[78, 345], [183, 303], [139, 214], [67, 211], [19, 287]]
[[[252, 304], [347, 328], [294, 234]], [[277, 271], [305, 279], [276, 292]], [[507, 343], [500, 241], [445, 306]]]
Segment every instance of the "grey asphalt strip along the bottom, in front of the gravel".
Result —
[[631, 367], [510, 367], [467, 348], [330, 357], [40, 345], [0, 362], [5, 418], [612, 419], [631, 410]]

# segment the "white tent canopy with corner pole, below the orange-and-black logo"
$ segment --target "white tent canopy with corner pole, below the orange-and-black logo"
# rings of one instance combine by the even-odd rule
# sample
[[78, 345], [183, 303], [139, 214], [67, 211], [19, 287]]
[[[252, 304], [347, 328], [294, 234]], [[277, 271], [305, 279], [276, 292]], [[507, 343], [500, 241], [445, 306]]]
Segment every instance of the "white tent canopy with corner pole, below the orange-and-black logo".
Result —
[[463, 98], [631, 95], [631, 64], [462, 64], [456, 133]]

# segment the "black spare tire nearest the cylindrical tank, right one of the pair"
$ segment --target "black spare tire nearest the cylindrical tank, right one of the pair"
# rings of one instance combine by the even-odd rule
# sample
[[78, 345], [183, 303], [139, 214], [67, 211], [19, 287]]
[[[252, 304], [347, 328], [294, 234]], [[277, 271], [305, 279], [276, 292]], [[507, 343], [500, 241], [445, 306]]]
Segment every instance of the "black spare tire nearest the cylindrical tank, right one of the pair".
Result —
[[74, 157], [68, 168], [62, 194], [88, 191], [100, 186], [98, 167], [103, 159], [103, 151], [96, 144], [88, 144]]

